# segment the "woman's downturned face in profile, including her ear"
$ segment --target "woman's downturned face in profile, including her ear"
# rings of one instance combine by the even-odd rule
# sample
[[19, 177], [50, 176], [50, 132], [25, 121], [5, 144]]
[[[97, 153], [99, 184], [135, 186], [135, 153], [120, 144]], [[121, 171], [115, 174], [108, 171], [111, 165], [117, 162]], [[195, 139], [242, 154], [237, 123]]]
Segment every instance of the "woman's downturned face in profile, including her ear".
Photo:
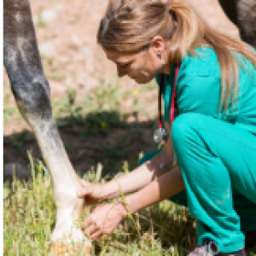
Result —
[[152, 44], [148, 49], [131, 55], [108, 49], [104, 49], [104, 51], [108, 60], [116, 64], [119, 78], [128, 75], [137, 84], [146, 84], [162, 72], [162, 69], [166, 66], [167, 58], [164, 46], [161, 47], [158, 44]]

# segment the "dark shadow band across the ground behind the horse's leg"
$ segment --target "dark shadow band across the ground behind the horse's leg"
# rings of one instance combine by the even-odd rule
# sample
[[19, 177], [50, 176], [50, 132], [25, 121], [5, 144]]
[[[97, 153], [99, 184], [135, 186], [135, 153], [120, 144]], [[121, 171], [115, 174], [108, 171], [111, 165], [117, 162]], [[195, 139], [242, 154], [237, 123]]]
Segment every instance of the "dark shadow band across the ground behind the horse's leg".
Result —
[[[103, 166], [102, 175], [119, 172], [124, 161], [132, 170], [137, 166], [139, 154], [157, 148], [152, 137], [156, 119], [138, 121], [137, 113], [94, 111], [84, 117], [74, 113], [55, 122], [69, 159], [76, 172], [82, 174], [99, 162]], [[31, 151], [33, 158], [43, 160], [31, 131], [3, 137], [4, 164], [26, 166], [27, 151]]]

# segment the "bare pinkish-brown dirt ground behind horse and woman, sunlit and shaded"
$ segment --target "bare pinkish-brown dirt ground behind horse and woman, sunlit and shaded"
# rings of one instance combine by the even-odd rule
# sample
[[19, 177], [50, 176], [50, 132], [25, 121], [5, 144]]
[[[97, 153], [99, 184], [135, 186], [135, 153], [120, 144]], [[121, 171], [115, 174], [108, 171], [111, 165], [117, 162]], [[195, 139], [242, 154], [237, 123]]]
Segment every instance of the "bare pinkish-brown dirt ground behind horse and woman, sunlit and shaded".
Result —
[[[67, 87], [77, 92], [76, 101], [82, 101], [90, 90], [99, 86], [99, 80], [104, 79], [106, 83], [112, 83], [116, 76], [116, 69], [107, 60], [102, 49], [96, 44], [96, 32], [102, 15], [105, 12], [108, 1], [100, 0], [31, 0], [32, 16], [35, 23], [39, 49], [43, 51], [44, 72], [49, 81], [52, 98], [66, 96]], [[221, 32], [229, 33], [238, 37], [236, 26], [230, 23], [223, 11], [218, 9], [215, 0], [190, 0], [201, 12], [201, 15], [215, 28]], [[48, 13], [46, 21], [42, 21], [42, 15]], [[47, 15], [46, 15], [47, 16]], [[48, 20], [47, 20], [48, 19]], [[11, 95], [8, 78], [3, 72], [4, 95], [10, 94], [6, 105], [15, 106], [14, 97]], [[141, 88], [131, 79], [124, 78], [120, 81], [119, 90], [140, 91]], [[157, 112], [157, 87], [148, 94], [139, 94], [138, 100], [143, 102], [148, 111]], [[149, 104], [150, 102], [150, 104]], [[127, 112], [131, 108], [131, 98], [127, 97], [123, 102], [123, 108]], [[147, 116], [137, 114], [137, 122], [147, 122]], [[150, 126], [150, 125], [149, 125]], [[10, 139], [14, 134], [22, 135], [26, 132], [26, 140], [22, 149], [15, 148]], [[61, 138], [64, 144], [69, 145], [69, 156], [76, 169], [86, 171], [90, 166], [101, 161], [102, 151], [96, 150], [94, 145], [100, 143], [100, 147], [109, 143], [117, 143], [122, 148], [124, 129], [115, 129], [108, 134], [108, 137], [90, 137], [85, 142], [79, 137], [72, 136], [72, 127], [60, 129]], [[26, 150], [32, 150], [35, 157], [40, 152], [30, 128], [20, 119], [4, 120], [3, 145], [4, 164], [28, 162]], [[130, 147], [123, 159], [130, 157], [131, 152], [137, 154], [141, 151], [147, 152], [155, 148], [152, 143], [152, 128], [143, 125], [139, 132], [130, 137], [129, 142], [124, 144]], [[67, 148], [68, 148], [67, 147]], [[116, 147], [119, 150], [118, 147]], [[130, 153], [129, 153], [130, 152]]]

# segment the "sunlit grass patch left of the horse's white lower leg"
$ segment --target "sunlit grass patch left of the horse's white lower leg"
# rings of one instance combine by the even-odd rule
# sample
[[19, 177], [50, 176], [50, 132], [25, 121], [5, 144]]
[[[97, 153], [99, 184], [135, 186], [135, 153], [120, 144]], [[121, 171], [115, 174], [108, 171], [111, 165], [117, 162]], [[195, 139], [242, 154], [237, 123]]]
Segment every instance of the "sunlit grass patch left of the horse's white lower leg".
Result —
[[43, 177], [42, 162], [32, 160], [28, 168], [28, 182], [14, 175], [3, 185], [3, 255], [47, 255], [55, 222], [50, 179]]

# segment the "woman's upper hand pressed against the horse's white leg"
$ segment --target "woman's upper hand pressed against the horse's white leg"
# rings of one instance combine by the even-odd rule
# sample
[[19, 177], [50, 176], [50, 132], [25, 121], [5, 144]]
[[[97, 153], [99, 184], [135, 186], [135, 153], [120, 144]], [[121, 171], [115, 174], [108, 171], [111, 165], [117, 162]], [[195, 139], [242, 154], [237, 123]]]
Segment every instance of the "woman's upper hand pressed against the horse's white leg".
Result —
[[77, 195], [79, 198], [85, 198], [87, 205], [96, 205], [105, 200], [104, 184], [93, 184], [84, 179], [80, 179], [79, 182], [82, 189], [77, 190]]

